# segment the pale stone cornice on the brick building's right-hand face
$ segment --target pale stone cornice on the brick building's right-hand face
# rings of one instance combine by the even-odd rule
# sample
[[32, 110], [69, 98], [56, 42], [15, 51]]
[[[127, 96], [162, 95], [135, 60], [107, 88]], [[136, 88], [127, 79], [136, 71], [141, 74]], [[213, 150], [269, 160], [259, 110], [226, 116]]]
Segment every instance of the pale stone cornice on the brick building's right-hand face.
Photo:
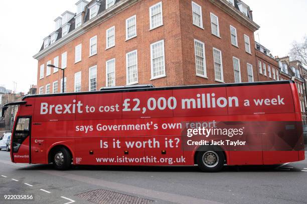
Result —
[[260, 26], [249, 19], [244, 13], [242, 13], [240, 10], [238, 10], [236, 7], [234, 7], [232, 4], [228, 2], [228, 0], [209, 0], [214, 5], [221, 8], [223, 11], [234, 17], [236, 20], [238, 20], [240, 23], [245, 25], [247, 28], [252, 30], [253, 32], [258, 30]]

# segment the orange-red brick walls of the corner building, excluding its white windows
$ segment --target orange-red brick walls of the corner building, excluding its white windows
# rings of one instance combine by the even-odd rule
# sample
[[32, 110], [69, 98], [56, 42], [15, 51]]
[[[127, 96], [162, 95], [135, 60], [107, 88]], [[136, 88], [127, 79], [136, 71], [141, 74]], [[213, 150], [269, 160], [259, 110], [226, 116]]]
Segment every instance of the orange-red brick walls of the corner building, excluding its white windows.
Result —
[[[97, 88], [106, 84], [105, 62], [115, 58], [116, 85], [126, 85], [126, 53], [137, 49], [138, 57], [138, 83], [154, 84], [155, 86], [173, 86], [188, 84], [220, 83], [215, 81], [213, 47], [222, 51], [223, 72], [225, 82], [234, 82], [232, 57], [240, 59], [242, 82], [248, 81], [247, 63], [253, 65], [254, 80], [258, 80], [255, 60], [255, 43], [253, 31], [241, 24], [235, 18], [221, 10], [209, 0], [195, 0], [202, 6], [203, 25], [201, 29], [193, 25], [191, 0], [162, 0], [163, 25], [149, 30], [149, 7], [161, 0], [140, 0], [130, 7], [103, 21], [78, 36], [62, 47], [38, 60], [38, 90], [39, 87], [59, 81], [62, 71], [59, 70], [46, 76], [46, 63], [59, 56], [61, 67], [61, 54], [67, 51], [67, 92], [74, 91], [74, 74], [82, 72], [81, 90], [88, 90], [89, 67], [97, 65]], [[210, 12], [219, 17], [220, 37], [211, 34]], [[136, 14], [137, 36], [125, 40], [125, 20]], [[231, 44], [230, 25], [237, 29], [238, 47]], [[106, 48], [106, 29], [115, 26], [115, 46]], [[245, 51], [244, 34], [250, 38], [251, 53]], [[97, 54], [89, 57], [89, 39], [97, 35]], [[165, 41], [165, 67], [166, 77], [150, 80], [150, 44], [158, 40]], [[194, 39], [205, 43], [205, 58], [208, 78], [196, 76]], [[75, 46], [82, 43], [82, 60], [75, 63]], [[44, 78], [39, 79], [40, 65], [45, 64]], [[39, 91], [38, 91], [39, 92]]]

